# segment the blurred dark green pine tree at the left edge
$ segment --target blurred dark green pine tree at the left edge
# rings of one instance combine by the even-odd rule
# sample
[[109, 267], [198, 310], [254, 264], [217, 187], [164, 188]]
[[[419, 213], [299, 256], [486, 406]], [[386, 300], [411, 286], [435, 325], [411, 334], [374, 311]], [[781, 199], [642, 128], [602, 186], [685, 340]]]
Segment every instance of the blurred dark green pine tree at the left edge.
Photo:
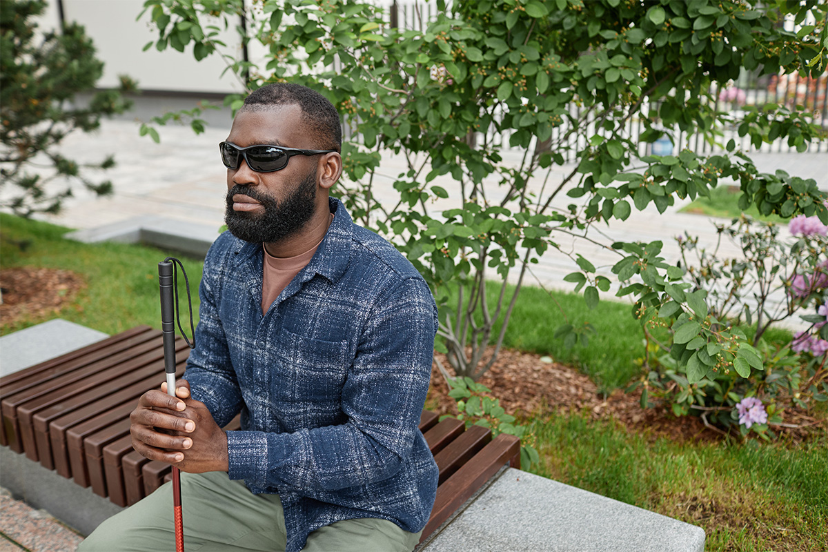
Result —
[[[94, 131], [101, 117], [123, 113], [130, 102], [121, 93], [134, 89], [122, 77], [120, 90], [94, 92], [103, 62], [95, 58], [84, 27], [67, 23], [38, 38], [34, 19], [45, 8], [46, 2], [36, 0], [0, 2], [0, 205], [24, 217], [57, 213], [77, 181], [95, 194], [112, 193], [111, 182], [89, 180], [79, 163], [55, 148], [70, 132]], [[94, 94], [79, 106], [76, 96], [82, 93]], [[109, 156], [85, 167], [114, 164]]]

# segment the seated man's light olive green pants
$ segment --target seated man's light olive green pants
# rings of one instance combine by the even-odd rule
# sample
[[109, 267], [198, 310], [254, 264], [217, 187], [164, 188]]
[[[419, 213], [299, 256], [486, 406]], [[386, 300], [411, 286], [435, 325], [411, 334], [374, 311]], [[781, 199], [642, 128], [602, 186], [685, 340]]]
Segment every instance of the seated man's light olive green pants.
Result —
[[[227, 473], [181, 473], [181, 506], [186, 552], [285, 550], [285, 516], [278, 495], [255, 495]], [[387, 520], [337, 521], [308, 536], [313, 552], [396, 552], [414, 550], [420, 533]], [[79, 552], [176, 550], [172, 487], [166, 483], [141, 502], [104, 521]]]

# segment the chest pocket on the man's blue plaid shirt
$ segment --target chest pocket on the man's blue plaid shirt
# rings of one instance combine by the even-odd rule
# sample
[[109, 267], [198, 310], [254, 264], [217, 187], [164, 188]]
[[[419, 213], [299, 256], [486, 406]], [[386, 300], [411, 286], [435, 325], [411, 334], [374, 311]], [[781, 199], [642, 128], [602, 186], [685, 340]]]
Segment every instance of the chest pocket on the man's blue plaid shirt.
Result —
[[276, 353], [280, 362], [271, 382], [273, 396], [314, 410], [339, 410], [350, 367], [347, 341], [311, 339], [283, 329]]

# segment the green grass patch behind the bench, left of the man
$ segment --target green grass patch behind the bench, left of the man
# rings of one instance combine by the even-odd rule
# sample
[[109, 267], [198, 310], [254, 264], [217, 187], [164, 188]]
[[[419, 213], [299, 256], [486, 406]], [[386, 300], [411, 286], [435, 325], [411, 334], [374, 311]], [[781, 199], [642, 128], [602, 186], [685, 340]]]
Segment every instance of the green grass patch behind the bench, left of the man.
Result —
[[[170, 253], [155, 247], [105, 242], [86, 244], [63, 238], [68, 228], [0, 214], [0, 266], [50, 267], [70, 270], [84, 278], [86, 287], [57, 313], [26, 316], [16, 324], [0, 326], [0, 334], [8, 334], [47, 319], [62, 318], [118, 334], [138, 324], [161, 328], [161, 307], [158, 292], [158, 262]], [[203, 262], [181, 258], [190, 278], [193, 293], [193, 314], [198, 313], [198, 282]], [[179, 278], [181, 324], [186, 327], [187, 310], [184, 279]], [[189, 334], [189, 329], [188, 329]]]

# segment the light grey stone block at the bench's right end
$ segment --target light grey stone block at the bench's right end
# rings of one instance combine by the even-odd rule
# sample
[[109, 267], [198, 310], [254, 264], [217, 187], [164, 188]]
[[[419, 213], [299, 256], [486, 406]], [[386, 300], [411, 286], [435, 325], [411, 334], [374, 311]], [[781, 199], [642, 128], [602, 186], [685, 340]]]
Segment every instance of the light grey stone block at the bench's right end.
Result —
[[424, 552], [704, 552], [705, 531], [508, 468]]

